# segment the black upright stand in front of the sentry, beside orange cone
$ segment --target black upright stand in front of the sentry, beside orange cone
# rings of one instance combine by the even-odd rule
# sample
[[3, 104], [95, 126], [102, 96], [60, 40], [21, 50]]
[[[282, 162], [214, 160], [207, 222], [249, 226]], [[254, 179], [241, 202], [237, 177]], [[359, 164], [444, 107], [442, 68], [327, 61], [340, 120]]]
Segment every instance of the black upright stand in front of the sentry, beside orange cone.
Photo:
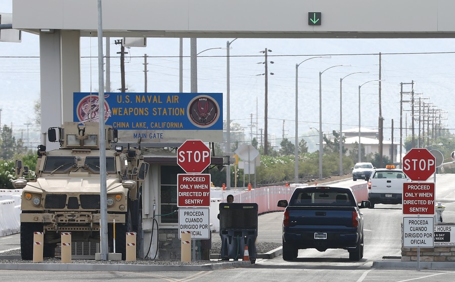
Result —
[[256, 203], [219, 204], [222, 259], [242, 259], [248, 246], [251, 262], [256, 261], [257, 212]]

